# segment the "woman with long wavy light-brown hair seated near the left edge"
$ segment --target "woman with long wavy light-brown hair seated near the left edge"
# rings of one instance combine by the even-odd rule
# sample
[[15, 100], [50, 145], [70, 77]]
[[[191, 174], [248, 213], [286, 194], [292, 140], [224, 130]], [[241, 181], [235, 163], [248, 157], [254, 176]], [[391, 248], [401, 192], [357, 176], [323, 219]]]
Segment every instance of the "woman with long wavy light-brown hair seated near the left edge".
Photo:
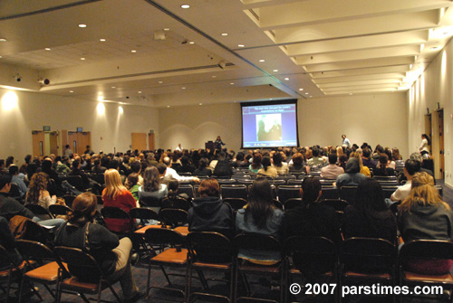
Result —
[[57, 201], [56, 195], [51, 196], [47, 191], [49, 184], [49, 176], [45, 173], [36, 173], [30, 180], [28, 191], [25, 197], [25, 204], [38, 204], [45, 209], [49, 209], [49, 205], [63, 204], [63, 201]]

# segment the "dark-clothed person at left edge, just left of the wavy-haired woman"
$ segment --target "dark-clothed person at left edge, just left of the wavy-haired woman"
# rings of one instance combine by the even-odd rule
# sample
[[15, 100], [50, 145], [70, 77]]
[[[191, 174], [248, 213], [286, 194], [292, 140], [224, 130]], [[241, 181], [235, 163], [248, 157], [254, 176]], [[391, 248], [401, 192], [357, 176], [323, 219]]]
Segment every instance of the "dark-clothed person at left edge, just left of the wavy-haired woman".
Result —
[[14, 198], [9, 196], [11, 190], [11, 175], [5, 172], [0, 172], [0, 216], [5, 217], [7, 221], [11, 220], [14, 215], [22, 215], [34, 222], [46, 226], [59, 227], [64, 223], [63, 219], [42, 220], [32, 213], [28, 208], [24, 207]]

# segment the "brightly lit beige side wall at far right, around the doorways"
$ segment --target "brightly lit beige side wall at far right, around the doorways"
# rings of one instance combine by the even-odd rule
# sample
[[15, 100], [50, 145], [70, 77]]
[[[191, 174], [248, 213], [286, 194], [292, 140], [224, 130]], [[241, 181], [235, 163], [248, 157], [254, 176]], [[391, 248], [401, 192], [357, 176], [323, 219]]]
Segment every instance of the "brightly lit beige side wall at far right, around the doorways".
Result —
[[[436, 59], [430, 63], [408, 92], [409, 100], [409, 149], [416, 151], [419, 147], [422, 133], [425, 130], [425, 115], [427, 108], [434, 115], [436, 109], [444, 109], [444, 148], [445, 148], [445, 182], [453, 186], [453, 161], [450, 153], [453, 153], [453, 43], [450, 41]], [[433, 123], [434, 124], [434, 123]], [[432, 129], [433, 133], [437, 129]], [[439, 149], [436, 148], [436, 140], [433, 142], [434, 156], [438, 156]], [[437, 150], [436, 150], [437, 149]], [[438, 163], [437, 163], [438, 162]], [[439, 170], [439, 161], [435, 158], [434, 168]]]

